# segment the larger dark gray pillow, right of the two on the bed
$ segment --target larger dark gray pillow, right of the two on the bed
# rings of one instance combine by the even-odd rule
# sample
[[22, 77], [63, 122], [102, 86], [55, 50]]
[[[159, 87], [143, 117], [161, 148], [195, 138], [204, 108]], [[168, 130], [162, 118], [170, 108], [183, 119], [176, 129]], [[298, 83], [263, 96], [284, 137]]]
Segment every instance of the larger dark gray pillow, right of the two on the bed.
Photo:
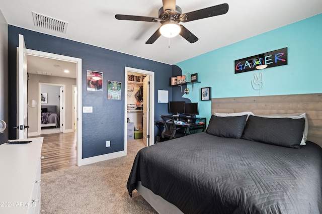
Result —
[[304, 126], [304, 118], [262, 118], [251, 115], [241, 138], [277, 146], [300, 148]]

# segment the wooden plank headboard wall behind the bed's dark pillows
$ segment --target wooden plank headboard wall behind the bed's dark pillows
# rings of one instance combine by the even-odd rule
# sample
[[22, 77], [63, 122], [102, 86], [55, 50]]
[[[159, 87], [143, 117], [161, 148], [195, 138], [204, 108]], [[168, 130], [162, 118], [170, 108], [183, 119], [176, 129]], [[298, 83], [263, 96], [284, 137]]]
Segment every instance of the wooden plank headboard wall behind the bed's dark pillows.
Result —
[[305, 112], [307, 140], [322, 147], [322, 93], [212, 98], [211, 114], [251, 111], [255, 115]]

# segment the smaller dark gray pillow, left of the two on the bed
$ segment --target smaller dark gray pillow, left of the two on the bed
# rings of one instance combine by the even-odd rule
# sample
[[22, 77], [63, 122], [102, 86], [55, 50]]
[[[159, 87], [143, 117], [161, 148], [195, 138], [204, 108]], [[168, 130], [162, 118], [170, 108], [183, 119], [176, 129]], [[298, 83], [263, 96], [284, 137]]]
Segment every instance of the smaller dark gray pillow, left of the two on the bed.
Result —
[[240, 138], [243, 134], [247, 115], [235, 117], [217, 117], [212, 115], [207, 133], [224, 138]]

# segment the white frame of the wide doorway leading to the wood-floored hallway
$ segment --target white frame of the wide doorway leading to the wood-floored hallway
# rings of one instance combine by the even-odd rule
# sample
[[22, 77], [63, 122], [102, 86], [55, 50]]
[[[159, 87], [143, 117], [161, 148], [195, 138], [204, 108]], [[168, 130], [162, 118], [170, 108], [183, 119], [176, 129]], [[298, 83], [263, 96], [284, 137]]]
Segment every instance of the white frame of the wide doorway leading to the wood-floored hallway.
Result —
[[53, 54], [43, 51], [26, 49], [27, 55], [47, 57], [57, 60], [69, 61], [76, 63], [76, 84], [77, 84], [77, 135], [76, 135], [76, 165], [85, 165], [82, 159], [82, 59]]

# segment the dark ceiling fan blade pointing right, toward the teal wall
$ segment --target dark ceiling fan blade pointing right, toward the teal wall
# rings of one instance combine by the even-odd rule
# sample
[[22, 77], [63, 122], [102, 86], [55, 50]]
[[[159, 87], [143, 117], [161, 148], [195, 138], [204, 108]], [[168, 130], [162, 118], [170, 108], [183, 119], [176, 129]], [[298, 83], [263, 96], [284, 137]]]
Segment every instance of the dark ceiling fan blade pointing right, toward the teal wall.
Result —
[[223, 15], [228, 12], [228, 4], [216, 5], [209, 8], [204, 8], [198, 11], [193, 11], [190, 13], [182, 14], [180, 16], [181, 22], [190, 22], [198, 19], [204, 19], [208, 17], [214, 17], [218, 15]]

